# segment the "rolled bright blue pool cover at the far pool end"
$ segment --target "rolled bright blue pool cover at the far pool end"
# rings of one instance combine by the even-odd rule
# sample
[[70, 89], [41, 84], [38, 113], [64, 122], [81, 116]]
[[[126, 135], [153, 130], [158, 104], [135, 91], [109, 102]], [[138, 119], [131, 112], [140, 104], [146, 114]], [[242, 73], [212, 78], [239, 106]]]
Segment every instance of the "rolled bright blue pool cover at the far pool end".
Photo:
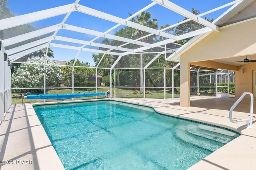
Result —
[[55, 99], [65, 100], [72, 98], [86, 98], [92, 96], [105, 96], [105, 92], [99, 93], [76, 93], [76, 94], [38, 94], [38, 95], [27, 95], [27, 99]]

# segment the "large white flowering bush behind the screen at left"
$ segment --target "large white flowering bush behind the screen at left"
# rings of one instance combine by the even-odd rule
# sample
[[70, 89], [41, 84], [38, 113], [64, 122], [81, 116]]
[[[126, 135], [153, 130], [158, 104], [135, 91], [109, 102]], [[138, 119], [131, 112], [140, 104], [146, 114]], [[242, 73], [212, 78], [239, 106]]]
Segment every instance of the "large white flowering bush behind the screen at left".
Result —
[[[45, 58], [28, 59], [27, 63], [21, 64], [16, 72], [12, 74], [12, 88], [42, 88], [44, 87], [44, 63]], [[58, 64], [55, 61], [46, 59], [46, 64]], [[62, 70], [60, 66], [46, 65], [46, 86], [57, 86], [62, 80]]]

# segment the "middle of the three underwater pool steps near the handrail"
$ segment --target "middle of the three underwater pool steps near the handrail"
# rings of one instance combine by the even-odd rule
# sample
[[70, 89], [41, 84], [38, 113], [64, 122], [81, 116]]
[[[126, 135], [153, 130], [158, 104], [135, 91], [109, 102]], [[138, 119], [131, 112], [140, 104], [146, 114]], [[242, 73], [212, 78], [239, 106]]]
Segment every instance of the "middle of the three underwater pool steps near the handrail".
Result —
[[193, 125], [187, 126], [186, 131], [192, 135], [196, 135], [198, 137], [202, 137], [202, 138], [209, 139], [209, 140], [223, 143], [223, 144], [226, 144], [229, 141], [234, 139], [234, 137], [218, 134], [212, 131], [205, 131], [203, 129], [199, 129], [198, 126], [193, 126]]

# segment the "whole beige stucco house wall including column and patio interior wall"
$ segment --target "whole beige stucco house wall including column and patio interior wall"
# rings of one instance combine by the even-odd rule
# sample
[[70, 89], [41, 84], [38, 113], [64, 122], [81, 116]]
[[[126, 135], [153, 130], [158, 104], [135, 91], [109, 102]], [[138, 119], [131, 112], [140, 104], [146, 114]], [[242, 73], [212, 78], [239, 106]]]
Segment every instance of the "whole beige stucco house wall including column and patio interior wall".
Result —
[[[238, 67], [210, 60], [256, 54], [255, 30], [256, 20], [222, 28], [220, 32], [212, 32], [180, 56], [180, 106], [190, 106], [187, 102], [190, 99], [190, 88], [188, 88], [190, 74], [185, 68], [190, 63], [211, 68], [234, 70], [236, 71], [236, 97], [239, 97], [244, 91], [252, 92], [252, 70], [256, 70], [256, 64], [250, 63]], [[242, 69], [245, 70], [244, 74], [241, 73]], [[182, 86], [183, 84], [188, 86]]]

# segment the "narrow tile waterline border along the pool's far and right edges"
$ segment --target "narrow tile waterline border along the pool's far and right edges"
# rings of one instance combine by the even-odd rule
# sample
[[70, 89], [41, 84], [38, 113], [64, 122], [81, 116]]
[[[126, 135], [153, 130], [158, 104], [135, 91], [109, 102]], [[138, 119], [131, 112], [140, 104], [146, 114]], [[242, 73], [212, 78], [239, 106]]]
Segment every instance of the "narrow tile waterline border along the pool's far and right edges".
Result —
[[[152, 108], [154, 109], [154, 107], [150, 107], [150, 106], [145, 106], [145, 105], [140, 105], [140, 104], [133, 104], [133, 103], [130, 103], [130, 102], [124, 102], [124, 101], [118, 101], [118, 100], [111, 100], [111, 99], [98, 99], [98, 100], [87, 100], [87, 101], [69, 101], [69, 102], [58, 102], [58, 103], [49, 103], [49, 104], [34, 104], [32, 105], [33, 107], [34, 106], [44, 106], [44, 105], [57, 105], [57, 104], [70, 104], [70, 103], [83, 103], [83, 102], [97, 102], [97, 101], [117, 101], [117, 102], [122, 102], [122, 103], [127, 103], [127, 104], [132, 104], [132, 105], [136, 105], [136, 106], [144, 106], [144, 107], [149, 107], [149, 108]], [[221, 127], [221, 126], [218, 126], [218, 125], [212, 125], [212, 124], [209, 124], [209, 123], [203, 123], [203, 122], [200, 122], [200, 121], [194, 121], [194, 120], [190, 120], [190, 119], [185, 119], [185, 118], [181, 118], [181, 117], [176, 117], [176, 116], [172, 116], [172, 115], [167, 115], [167, 114], [164, 114], [164, 113], [159, 113], [157, 112], [155, 109], [154, 111], [159, 114], [159, 115], [164, 115], [164, 116], [167, 116], [167, 117], [172, 117], [172, 118], [176, 118], [176, 119], [181, 119], [181, 120], [184, 120], [184, 121], [190, 121], [190, 122], [194, 122], [194, 123], [198, 123], [198, 124], [202, 124], [202, 125], [207, 125], [207, 126], [211, 126], [211, 127], [216, 127], [216, 128], [220, 128], [220, 129], [224, 129], [224, 130], [227, 130], [227, 131], [231, 131], [233, 133], [236, 133], [237, 135], [241, 135], [241, 133], [239, 133], [238, 131], [234, 131], [232, 129], [228, 129], [226, 127]]]

